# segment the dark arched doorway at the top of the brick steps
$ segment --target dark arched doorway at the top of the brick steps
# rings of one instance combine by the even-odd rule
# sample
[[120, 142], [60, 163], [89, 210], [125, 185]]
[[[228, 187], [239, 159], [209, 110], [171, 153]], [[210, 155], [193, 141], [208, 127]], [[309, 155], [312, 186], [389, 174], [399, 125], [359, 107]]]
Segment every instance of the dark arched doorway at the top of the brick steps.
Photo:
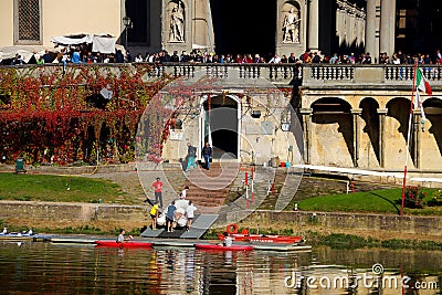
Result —
[[201, 145], [211, 143], [213, 159], [225, 154], [238, 159], [239, 155], [239, 103], [228, 96], [208, 97], [203, 103], [204, 116]]

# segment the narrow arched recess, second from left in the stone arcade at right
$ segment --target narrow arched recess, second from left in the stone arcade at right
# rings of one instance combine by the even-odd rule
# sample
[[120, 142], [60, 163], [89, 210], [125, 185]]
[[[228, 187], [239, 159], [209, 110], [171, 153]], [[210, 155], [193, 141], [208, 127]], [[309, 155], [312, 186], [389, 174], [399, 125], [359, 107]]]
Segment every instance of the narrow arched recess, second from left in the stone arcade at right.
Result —
[[[366, 156], [367, 167], [370, 167], [370, 154], [373, 152], [377, 159], [377, 164], [380, 164], [380, 136], [379, 136], [379, 115], [378, 108], [379, 103], [373, 97], [366, 97], [364, 98], [360, 104], [359, 108], [361, 109], [360, 117], [365, 123], [362, 128], [362, 136], [364, 134], [368, 136], [367, 145], [361, 146], [361, 158], [364, 159]], [[364, 141], [364, 140], [362, 140]], [[366, 146], [366, 147], [365, 147]]]

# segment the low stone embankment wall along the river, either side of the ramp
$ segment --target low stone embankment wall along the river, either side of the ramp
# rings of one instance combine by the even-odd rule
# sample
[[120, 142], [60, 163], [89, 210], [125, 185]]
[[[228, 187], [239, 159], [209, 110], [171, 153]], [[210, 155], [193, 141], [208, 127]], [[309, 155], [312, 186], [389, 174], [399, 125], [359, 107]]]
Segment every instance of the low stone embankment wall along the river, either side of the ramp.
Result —
[[[234, 220], [234, 215], [231, 217]], [[52, 203], [33, 201], [0, 201], [0, 219], [14, 225], [35, 228], [57, 224], [150, 224], [148, 207], [104, 203]], [[21, 221], [23, 224], [20, 224]], [[19, 224], [17, 224], [19, 223]], [[366, 233], [392, 238], [419, 236], [442, 240], [441, 217], [394, 214], [306, 212], [306, 211], [254, 211], [244, 224], [261, 229], [293, 229], [313, 231]], [[98, 224], [98, 225], [97, 225]], [[126, 225], [127, 226], [127, 225]]]

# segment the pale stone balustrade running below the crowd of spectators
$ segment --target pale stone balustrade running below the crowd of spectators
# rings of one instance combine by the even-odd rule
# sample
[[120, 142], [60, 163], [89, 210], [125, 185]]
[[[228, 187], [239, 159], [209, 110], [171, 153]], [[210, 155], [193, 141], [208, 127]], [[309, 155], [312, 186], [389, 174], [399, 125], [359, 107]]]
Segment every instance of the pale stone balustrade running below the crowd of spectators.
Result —
[[[40, 69], [41, 71], [75, 70], [82, 66], [98, 66], [98, 64], [61, 64], [19, 65], [23, 73]], [[380, 87], [380, 88], [410, 88], [413, 80], [413, 65], [361, 65], [361, 64], [192, 64], [192, 63], [133, 63], [133, 64], [99, 64], [102, 67], [118, 72], [122, 69], [148, 69], [144, 78], [152, 81], [166, 75], [172, 77], [198, 77], [207, 75], [213, 78], [267, 80], [276, 86], [294, 85], [296, 81], [305, 87]], [[0, 66], [6, 69], [10, 66]], [[433, 88], [442, 86], [442, 67], [439, 65], [421, 66], [425, 77]], [[299, 85], [299, 84], [297, 84]]]

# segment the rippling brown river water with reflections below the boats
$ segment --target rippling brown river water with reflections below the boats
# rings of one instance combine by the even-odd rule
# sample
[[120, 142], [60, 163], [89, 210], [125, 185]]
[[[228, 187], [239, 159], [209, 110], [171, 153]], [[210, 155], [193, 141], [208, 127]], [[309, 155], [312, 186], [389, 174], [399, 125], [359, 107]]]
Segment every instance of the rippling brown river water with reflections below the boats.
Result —
[[[0, 242], [0, 294], [442, 294], [440, 251], [213, 252]], [[381, 267], [382, 276], [376, 275]], [[394, 287], [404, 277], [406, 287], [420, 289]]]

